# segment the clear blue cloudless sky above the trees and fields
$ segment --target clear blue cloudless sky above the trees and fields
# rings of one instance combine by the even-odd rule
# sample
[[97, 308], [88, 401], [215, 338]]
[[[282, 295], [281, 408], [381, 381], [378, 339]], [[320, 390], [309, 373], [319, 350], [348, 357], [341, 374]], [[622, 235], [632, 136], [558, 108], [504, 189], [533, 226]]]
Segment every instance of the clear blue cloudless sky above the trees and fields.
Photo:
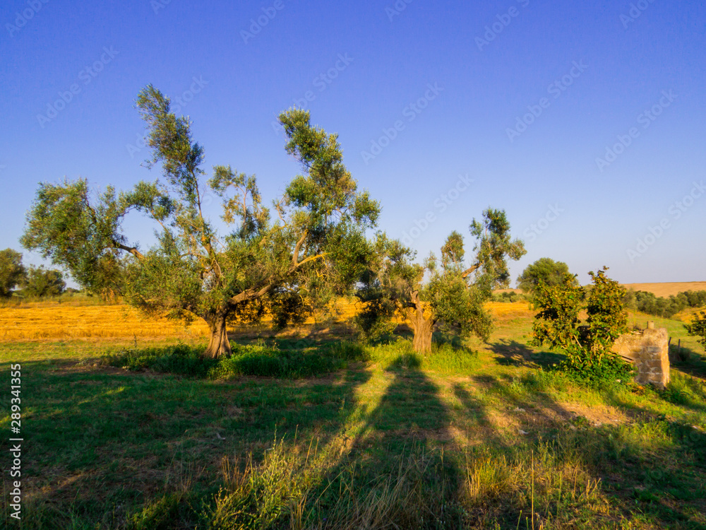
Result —
[[513, 279], [541, 257], [582, 283], [706, 279], [701, 0], [4, 0], [0, 24], [0, 249], [39, 182], [157, 177], [152, 83], [267, 201], [299, 172], [273, 122], [311, 110], [419, 258], [492, 206], [525, 240]]

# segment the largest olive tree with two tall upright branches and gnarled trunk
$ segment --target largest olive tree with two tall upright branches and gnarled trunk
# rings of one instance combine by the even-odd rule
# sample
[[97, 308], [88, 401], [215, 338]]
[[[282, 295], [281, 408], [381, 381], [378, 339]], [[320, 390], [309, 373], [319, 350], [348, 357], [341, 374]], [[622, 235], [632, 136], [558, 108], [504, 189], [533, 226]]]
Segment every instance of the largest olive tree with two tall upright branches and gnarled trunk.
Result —
[[[303, 174], [268, 208], [253, 175], [217, 165], [205, 179], [204, 151], [192, 138], [191, 121], [171, 112], [160, 90], [144, 88], [137, 107], [149, 130], [148, 167], [160, 165], [160, 177], [100, 194], [92, 194], [85, 179], [41, 184], [22, 238], [26, 248], [97, 289], [127, 257], [126, 301], [147, 314], [203, 319], [210, 357], [231, 352], [227, 322], [258, 319], [265, 308], [287, 322], [307, 296], [341, 290], [359, 275], [364, 231], [375, 225], [379, 206], [358, 190], [337, 135], [312, 126], [309, 112], [280, 114], [285, 149]], [[227, 232], [205, 215], [206, 194], [222, 199]], [[130, 212], [155, 224], [155, 245], [141, 249], [128, 240]]]

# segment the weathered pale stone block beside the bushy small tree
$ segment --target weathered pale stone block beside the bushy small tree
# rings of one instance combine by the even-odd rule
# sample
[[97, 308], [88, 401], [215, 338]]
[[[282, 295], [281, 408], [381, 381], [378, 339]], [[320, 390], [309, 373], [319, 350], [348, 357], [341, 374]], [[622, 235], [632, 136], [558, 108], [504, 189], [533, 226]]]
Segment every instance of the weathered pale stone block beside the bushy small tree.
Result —
[[635, 365], [635, 382], [652, 383], [664, 389], [669, 383], [669, 334], [666, 329], [649, 327], [621, 335], [613, 352]]

